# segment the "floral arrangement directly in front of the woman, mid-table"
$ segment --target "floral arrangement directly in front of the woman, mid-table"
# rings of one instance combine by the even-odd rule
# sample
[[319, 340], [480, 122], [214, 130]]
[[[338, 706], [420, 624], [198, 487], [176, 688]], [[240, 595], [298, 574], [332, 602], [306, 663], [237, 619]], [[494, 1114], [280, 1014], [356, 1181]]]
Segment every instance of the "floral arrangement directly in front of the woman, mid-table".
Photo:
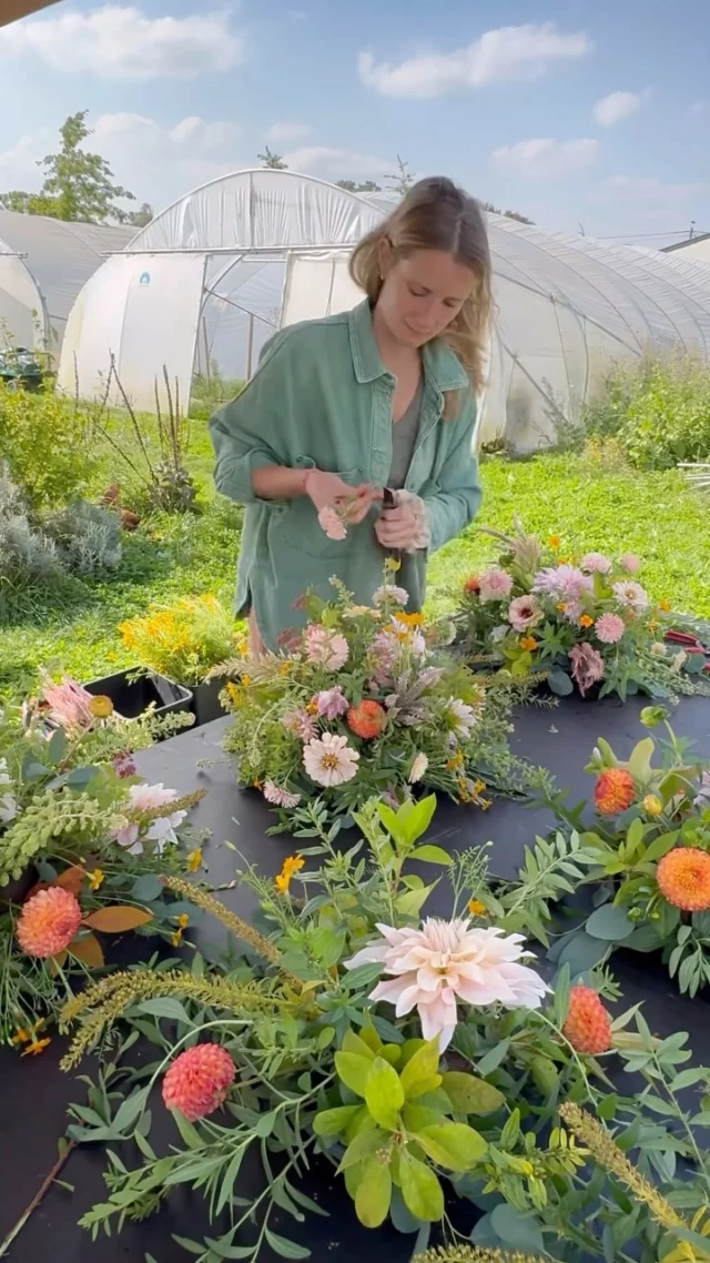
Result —
[[239, 755], [240, 781], [260, 788], [284, 822], [316, 796], [346, 816], [373, 794], [397, 803], [426, 787], [485, 807], [486, 783], [524, 784], [508, 734], [526, 686], [488, 688], [455, 663], [442, 652], [451, 625], [404, 613], [394, 572], [388, 563], [371, 608], [332, 580], [332, 602], [304, 597], [308, 624], [287, 655], [220, 668], [234, 715], [225, 746]]

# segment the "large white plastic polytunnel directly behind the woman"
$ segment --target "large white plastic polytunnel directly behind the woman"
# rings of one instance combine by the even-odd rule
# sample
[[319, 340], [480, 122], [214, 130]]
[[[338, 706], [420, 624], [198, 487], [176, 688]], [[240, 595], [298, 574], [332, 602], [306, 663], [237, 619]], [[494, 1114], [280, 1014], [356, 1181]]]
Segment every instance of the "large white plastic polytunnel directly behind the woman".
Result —
[[[91, 397], [111, 359], [138, 408], [167, 371], [248, 378], [284, 325], [346, 309], [352, 245], [395, 205], [289, 171], [243, 171], [168, 207], [85, 285], [59, 384]], [[546, 234], [489, 216], [495, 318], [479, 441], [534, 448], [611, 360], [653, 346], [710, 352], [710, 264]]]

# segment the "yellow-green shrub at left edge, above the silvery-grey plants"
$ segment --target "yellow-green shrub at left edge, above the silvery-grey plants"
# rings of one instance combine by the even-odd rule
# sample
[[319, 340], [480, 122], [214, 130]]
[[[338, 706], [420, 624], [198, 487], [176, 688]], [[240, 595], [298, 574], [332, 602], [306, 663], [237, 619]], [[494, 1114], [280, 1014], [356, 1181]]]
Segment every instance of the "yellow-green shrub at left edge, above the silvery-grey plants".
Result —
[[0, 453], [33, 509], [63, 505], [80, 495], [96, 465], [90, 413], [49, 389], [0, 385]]

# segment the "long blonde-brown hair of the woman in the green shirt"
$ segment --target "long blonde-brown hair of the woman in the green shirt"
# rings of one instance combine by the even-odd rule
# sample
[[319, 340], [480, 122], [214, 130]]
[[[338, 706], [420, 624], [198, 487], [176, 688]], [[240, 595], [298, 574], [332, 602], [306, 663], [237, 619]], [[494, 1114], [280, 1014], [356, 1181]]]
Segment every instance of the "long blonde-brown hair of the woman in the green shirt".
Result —
[[[445, 177], [414, 184], [392, 215], [363, 237], [350, 258], [350, 275], [365, 290], [373, 307], [383, 287], [379, 259], [383, 240], [389, 241], [395, 260], [406, 259], [414, 250], [447, 250], [456, 263], [474, 273], [475, 287], [441, 333], [441, 340], [456, 352], [471, 386], [479, 393], [485, 383], [491, 308], [490, 251], [479, 203]], [[455, 405], [456, 400], [451, 403]], [[448, 399], [443, 414], [451, 416]]]

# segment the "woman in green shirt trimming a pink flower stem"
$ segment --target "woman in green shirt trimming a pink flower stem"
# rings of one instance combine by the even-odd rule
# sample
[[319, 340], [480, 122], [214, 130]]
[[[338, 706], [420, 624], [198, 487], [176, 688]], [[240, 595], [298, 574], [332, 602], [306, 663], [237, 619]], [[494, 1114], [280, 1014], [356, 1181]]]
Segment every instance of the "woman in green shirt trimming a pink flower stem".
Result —
[[[422, 181], [356, 246], [350, 273], [365, 301], [277, 333], [211, 422], [217, 490], [246, 505], [236, 605], [254, 652], [287, 643], [298, 599], [331, 597], [331, 576], [370, 605], [388, 553], [403, 557], [408, 611], [421, 610], [428, 553], [480, 503], [490, 256], [478, 203], [448, 179]], [[322, 529], [323, 509], [345, 538]]]

